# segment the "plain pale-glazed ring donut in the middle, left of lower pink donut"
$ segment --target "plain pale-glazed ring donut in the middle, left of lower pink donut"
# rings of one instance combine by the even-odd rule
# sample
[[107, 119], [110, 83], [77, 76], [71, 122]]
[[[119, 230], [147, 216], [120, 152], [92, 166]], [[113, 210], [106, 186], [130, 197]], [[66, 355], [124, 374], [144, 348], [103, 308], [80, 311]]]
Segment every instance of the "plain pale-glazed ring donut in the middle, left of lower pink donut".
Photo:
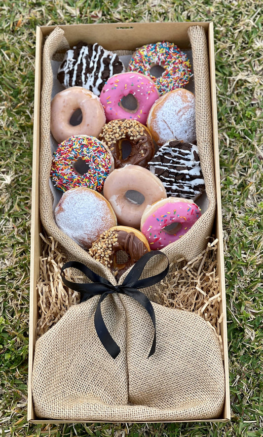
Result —
[[[136, 202], [140, 194], [140, 202]], [[147, 168], [131, 164], [117, 168], [107, 177], [104, 196], [111, 203], [118, 224], [140, 228], [141, 217], [147, 205], [166, 198], [162, 182]]]

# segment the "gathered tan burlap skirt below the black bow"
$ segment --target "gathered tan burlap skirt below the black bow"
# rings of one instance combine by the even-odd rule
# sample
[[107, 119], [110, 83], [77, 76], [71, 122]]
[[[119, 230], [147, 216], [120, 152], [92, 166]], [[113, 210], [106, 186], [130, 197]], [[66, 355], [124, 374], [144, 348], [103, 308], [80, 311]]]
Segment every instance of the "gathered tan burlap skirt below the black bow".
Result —
[[94, 328], [98, 297], [72, 306], [36, 343], [32, 390], [38, 417], [165, 421], [219, 417], [225, 377], [218, 338], [200, 316], [153, 303], [153, 327], [128, 296], [108, 296], [103, 317], [120, 346], [115, 360]]

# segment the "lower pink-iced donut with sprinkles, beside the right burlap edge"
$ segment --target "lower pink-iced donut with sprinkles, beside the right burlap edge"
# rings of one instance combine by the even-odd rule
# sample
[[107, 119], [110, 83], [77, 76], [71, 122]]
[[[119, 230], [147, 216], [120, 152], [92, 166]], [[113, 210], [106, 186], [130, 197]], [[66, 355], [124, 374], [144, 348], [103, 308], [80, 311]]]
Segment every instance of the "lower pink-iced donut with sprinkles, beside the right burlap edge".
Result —
[[[201, 212], [188, 199], [169, 197], [148, 206], [141, 220], [141, 232], [150, 243], [151, 250], [162, 249], [185, 235]], [[175, 226], [171, 225], [175, 224]], [[165, 228], [170, 228], [169, 233]]]

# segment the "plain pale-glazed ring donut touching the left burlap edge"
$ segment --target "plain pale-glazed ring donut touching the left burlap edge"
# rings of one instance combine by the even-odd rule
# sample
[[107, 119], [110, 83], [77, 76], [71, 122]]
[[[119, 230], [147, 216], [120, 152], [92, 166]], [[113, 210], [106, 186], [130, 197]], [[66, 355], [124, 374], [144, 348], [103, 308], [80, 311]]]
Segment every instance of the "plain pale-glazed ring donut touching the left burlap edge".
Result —
[[[77, 110], [81, 111], [82, 120], [72, 125], [72, 116]], [[67, 88], [51, 101], [50, 130], [58, 143], [73, 135], [98, 137], [105, 122], [100, 99], [84, 88]]]

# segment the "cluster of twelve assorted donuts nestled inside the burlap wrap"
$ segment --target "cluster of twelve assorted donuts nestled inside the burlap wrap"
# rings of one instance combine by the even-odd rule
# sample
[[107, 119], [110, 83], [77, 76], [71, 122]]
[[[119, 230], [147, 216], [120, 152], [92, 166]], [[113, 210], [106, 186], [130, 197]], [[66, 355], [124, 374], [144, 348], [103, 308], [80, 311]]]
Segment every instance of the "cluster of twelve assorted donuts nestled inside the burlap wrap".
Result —
[[51, 177], [63, 192], [57, 226], [117, 278], [185, 235], [205, 191], [187, 55], [148, 44], [126, 69], [99, 44], [79, 42], [58, 69], [65, 89], [51, 101], [50, 123]]

